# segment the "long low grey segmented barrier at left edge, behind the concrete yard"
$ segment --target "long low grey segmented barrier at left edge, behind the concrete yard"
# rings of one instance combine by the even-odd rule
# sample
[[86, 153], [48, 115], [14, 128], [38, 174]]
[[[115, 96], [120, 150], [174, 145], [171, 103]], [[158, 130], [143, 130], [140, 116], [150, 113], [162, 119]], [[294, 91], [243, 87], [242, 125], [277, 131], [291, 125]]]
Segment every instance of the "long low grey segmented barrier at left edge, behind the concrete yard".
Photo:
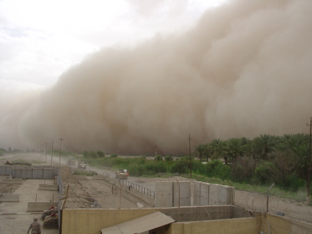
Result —
[[26, 179], [53, 179], [59, 167], [12, 167], [0, 166], [0, 176]]

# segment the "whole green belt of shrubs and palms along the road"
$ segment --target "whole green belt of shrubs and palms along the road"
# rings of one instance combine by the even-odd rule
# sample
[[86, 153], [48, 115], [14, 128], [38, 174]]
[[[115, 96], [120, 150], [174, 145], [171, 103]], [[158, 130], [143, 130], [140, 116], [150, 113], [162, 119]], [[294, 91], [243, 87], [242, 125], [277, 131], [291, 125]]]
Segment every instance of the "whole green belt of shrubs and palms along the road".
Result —
[[[99, 153], [100, 152], [100, 153]], [[304, 200], [308, 174], [309, 135], [260, 135], [252, 140], [215, 139], [194, 149], [191, 164], [188, 157], [173, 160], [172, 156], [155, 156], [155, 160], [118, 158], [115, 153], [105, 158], [101, 151], [83, 153], [85, 162], [92, 166], [128, 169], [130, 176], [170, 176], [180, 174], [198, 181], [232, 184], [236, 189], [266, 193]], [[205, 164], [202, 164], [205, 161]]]

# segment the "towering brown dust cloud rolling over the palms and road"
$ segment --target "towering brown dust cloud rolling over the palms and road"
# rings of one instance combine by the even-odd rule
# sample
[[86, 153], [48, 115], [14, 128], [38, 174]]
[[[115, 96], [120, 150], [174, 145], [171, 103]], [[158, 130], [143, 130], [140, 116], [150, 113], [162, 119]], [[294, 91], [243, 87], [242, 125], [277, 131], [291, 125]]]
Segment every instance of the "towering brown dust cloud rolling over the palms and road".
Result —
[[11, 140], [33, 149], [62, 134], [67, 150], [153, 153], [157, 142], [187, 153], [189, 133], [195, 146], [308, 132], [311, 12], [309, 0], [229, 1], [181, 35], [101, 49], [16, 113]]

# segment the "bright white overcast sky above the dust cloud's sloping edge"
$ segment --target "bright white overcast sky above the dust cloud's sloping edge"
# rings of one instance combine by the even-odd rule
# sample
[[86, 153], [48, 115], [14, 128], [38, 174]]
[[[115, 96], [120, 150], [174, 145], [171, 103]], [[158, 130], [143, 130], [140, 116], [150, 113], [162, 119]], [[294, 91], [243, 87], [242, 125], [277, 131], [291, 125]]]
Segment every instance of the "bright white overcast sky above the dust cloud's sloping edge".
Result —
[[53, 85], [87, 54], [179, 33], [224, 0], [0, 0], [0, 85]]

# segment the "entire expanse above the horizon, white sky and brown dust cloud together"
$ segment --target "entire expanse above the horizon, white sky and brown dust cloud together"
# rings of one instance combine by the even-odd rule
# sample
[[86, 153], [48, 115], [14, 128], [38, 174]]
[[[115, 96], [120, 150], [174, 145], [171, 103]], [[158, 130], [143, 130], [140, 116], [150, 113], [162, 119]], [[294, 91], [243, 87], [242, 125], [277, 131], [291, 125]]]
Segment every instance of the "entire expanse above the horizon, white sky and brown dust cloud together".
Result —
[[112, 4], [0, 0], [0, 148], [184, 154], [189, 135], [309, 133], [312, 1]]

